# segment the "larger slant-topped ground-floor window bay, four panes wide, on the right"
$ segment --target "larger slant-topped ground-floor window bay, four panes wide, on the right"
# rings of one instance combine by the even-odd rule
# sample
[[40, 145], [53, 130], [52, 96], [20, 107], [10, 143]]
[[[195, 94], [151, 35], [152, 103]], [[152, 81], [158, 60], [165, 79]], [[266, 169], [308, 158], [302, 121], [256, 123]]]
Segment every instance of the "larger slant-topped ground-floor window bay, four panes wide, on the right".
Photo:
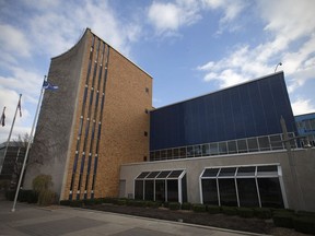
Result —
[[284, 208], [279, 165], [206, 168], [200, 177], [206, 204]]

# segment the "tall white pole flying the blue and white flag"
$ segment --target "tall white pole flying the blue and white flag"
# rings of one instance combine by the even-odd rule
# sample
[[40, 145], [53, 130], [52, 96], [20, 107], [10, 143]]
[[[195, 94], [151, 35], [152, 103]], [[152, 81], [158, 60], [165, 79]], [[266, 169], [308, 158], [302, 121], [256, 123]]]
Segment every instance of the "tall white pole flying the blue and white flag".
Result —
[[[44, 76], [44, 81], [46, 81], [46, 75]], [[26, 161], [27, 161], [27, 155], [28, 155], [28, 151], [30, 151], [30, 148], [31, 148], [31, 142], [32, 142], [32, 139], [33, 139], [33, 132], [34, 132], [36, 120], [37, 120], [37, 116], [38, 116], [38, 113], [39, 113], [39, 107], [40, 107], [40, 104], [42, 104], [44, 91], [45, 90], [43, 88], [43, 85], [42, 85], [40, 95], [39, 95], [39, 99], [38, 99], [35, 117], [34, 117], [34, 120], [33, 120], [33, 126], [32, 126], [28, 143], [27, 143], [25, 157], [24, 157], [23, 166], [22, 166], [22, 169], [21, 169], [21, 173], [20, 173], [20, 179], [19, 179], [19, 184], [18, 184], [18, 187], [16, 187], [14, 202], [13, 202], [13, 206], [12, 206], [12, 210], [11, 210], [12, 212], [15, 212], [16, 200], [18, 200], [18, 197], [19, 197], [19, 192], [20, 192], [20, 188], [21, 188], [21, 184], [22, 184], [22, 179], [23, 179], [23, 175], [24, 175], [24, 169], [25, 169], [25, 165], [26, 165]]]

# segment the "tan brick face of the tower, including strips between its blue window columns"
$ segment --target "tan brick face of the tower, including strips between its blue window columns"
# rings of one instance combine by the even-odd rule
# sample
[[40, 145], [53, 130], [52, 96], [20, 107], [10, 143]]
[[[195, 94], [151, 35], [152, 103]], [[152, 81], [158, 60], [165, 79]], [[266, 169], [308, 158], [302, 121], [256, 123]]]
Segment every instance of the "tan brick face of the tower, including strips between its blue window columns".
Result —
[[[68, 173], [67, 180], [65, 184], [63, 199], [69, 198], [71, 178], [73, 173], [73, 163], [77, 150], [78, 131], [80, 126], [80, 117], [82, 115], [82, 103], [83, 94], [85, 88], [85, 79], [88, 74], [90, 48], [92, 45], [93, 34], [88, 31], [85, 37], [88, 38], [88, 44], [85, 48], [85, 55], [82, 63], [82, 71], [80, 76], [80, 86], [77, 98], [77, 109], [74, 114], [74, 126], [72, 130], [72, 144], [69, 150], [69, 162], [68, 162]], [[96, 37], [98, 40], [100, 38]], [[104, 42], [101, 40], [102, 45]], [[94, 45], [92, 68], [90, 72], [89, 88], [86, 96], [86, 106], [83, 114], [83, 127], [80, 141], [79, 160], [77, 164], [75, 180], [73, 185], [73, 197], [77, 198], [80, 168], [82, 163], [82, 152], [83, 142], [86, 128], [86, 119], [90, 118], [90, 132], [86, 140], [85, 148], [85, 163], [84, 170], [82, 175], [81, 188], [80, 188], [80, 199], [84, 196], [85, 179], [88, 173], [88, 161], [90, 153], [90, 141], [92, 137], [92, 126], [93, 117], [95, 113], [96, 93], [94, 93], [94, 99], [91, 108], [91, 114], [89, 116], [89, 105], [90, 95], [92, 87], [92, 80], [94, 73], [94, 61], [96, 59], [96, 47]], [[102, 47], [101, 47], [102, 49]], [[106, 47], [107, 49], [107, 47]], [[101, 51], [98, 52], [97, 67], [100, 67]], [[91, 198], [91, 187], [94, 170], [94, 160], [96, 154], [96, 142], [97, 142], [97, 129], [98, 129], [98, 118], [101, 113], [101, 102], [102, 102], [102, 88], [104, 83], [105, 73], [105, 59], [106, 51], [103, 58], [103, 73], [102, 81], [100, 84], [100, 97], [97, 106], [97, 116], [95, 119], [95, 134], [94, 143], [92, 146], [92, 163], [90, 169], [88, 198]], [[100, 68], [97, 68], [97, 73], [94, 82], [94, 92], [97, 88]], [[149, 88], [149, 92], [145, 91]], [[119, 188], [119, 167], [124, 163], [142, 162], [143, 156], [149, 158], [149, 114], [145, 114], [145, 109], [152, 107], [152, 79], [150, 75], [140, 70], [136, 64], [126, 59], [119, 52], [109, 49], [109, 64], [107, 73], [107, 83], [105, 90], [105, 104], [103, 109], [102, 119], [102, 133], [100, 140], [98, 150], [98, 166], [96, 174], [96, 181], [94, 193], [95, 198], [107, 197], [107, 196], [118, 196]], [[144, 131], [148, 132], [148, 137], [144, 137]]]

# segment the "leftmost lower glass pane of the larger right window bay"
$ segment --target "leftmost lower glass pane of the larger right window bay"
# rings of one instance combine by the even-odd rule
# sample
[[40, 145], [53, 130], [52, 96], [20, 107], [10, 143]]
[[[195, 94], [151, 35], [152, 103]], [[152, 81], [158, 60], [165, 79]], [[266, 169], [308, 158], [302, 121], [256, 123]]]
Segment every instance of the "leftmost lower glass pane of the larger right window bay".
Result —
[[203, 204], [219, 205], [217, 179], [202, 179]]

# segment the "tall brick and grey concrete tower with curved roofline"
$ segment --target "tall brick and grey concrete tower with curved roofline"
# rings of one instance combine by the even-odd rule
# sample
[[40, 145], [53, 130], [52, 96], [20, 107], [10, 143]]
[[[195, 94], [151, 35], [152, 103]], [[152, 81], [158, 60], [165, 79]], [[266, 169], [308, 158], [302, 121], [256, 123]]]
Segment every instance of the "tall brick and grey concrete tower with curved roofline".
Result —
[[152, 78], [88, 28], [48, 81], [25, 186], [48, 174], [60, 199], [117, 196], [120, 165], [149, 158]]

